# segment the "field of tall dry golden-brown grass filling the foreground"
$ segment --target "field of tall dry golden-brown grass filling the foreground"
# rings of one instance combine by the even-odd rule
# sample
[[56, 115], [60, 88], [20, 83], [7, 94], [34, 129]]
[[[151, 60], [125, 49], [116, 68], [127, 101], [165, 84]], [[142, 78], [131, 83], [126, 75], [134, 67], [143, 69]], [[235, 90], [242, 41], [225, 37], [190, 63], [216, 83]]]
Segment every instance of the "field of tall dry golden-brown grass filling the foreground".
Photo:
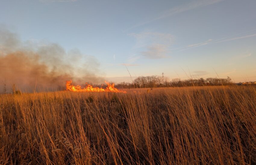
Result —
[[256, 164], [256, 88], [0, 95], [0, 164]]

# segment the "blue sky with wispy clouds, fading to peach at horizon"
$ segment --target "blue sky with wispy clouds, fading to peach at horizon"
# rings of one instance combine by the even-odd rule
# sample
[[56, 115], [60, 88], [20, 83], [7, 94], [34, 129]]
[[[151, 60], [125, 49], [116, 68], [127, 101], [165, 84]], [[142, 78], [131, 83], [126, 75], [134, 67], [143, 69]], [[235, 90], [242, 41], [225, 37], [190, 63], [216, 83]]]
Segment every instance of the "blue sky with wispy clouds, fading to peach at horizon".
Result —
[[95, 74], [110, 81], [163, 72], [244, 82], [256, 81], [255, 7], [255, 0], [0, 0], [0, 25], [23, 42], [79, 50], [77, 65], [94, 57]]

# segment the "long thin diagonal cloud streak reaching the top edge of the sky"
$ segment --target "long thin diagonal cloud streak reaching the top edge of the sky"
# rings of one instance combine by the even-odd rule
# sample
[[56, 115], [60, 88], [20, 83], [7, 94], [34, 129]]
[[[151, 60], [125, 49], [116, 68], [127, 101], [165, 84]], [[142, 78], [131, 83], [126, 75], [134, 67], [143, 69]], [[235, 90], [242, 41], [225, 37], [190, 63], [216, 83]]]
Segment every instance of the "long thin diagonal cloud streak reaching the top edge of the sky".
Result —
[[197, 1], [192, 1], [190, 3], [187, 3], [187, 4], [179, 5], [177, 7], [173, 7], [173, 8], [170, 8], [169, 10], [164, 11], [158, 17], [152, 18], [152, 19], [150, 19], [148, 21], [145, 21], [145, 22], [138, 23], [138, 24], [126, 29], [126, 30], [133, 29], [133, 28], [136, 28], [138, 26], [142, 26], [144, 24], [147, 24], [149, 22], [153, 22], [153, 21], [156, 21], [158, 19], [163, 19], [163, 18], [166, 18], [166, 17], [169, 17], [169, 16], [173, 16], [175, 14], [182, 13], [182, 12], [185, 12], [185, 11], [188, 11], [188, 10], [193, 10], [195, 8], [198, 8], [198, 7], [203, 7], [203, 6], [208, 6], [208, 5], [211, 5], [211, 4], [215, 4], [215, 3], [218, 3], [220, 1], [223, 1], [223, 0], [197, 0]]

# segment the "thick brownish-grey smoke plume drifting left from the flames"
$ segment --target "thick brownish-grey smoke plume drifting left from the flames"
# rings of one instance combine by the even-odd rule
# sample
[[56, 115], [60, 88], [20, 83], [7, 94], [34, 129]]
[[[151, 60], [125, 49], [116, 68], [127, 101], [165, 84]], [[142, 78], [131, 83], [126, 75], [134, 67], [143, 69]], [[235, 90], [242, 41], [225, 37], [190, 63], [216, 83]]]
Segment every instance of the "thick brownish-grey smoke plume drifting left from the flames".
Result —
[[0, 80], [6, 79], [9, 92], [12, 84], [23, 91], [39, 91], [64, 89], [70, 79], [78, 84], [100, 83], [103, 79], [95, 76], [98, 67], [93, 56], [77, 49], [66, 52], [58, 44], [22, 42], [17, 34], [0, 27]]

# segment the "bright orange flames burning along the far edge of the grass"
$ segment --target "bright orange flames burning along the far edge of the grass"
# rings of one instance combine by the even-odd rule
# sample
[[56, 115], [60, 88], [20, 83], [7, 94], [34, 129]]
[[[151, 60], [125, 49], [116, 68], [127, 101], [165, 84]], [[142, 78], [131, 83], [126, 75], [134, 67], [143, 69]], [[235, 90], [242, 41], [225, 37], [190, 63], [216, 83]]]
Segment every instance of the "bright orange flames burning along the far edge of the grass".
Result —
[[117, 92], [117, 93], [126, 93], [126, 91], [120, 91], [117, 88], [115, 88], [115, 84], [110, 84], [105, 81], [105, 83], [108, 85], [105, 89], [99, 88], [99, 87], [93, 87], [90, 84], [86, 83], [85, 88], [81, 88], [80, 85], [74, 86], [72, 84], [72, 80], [67, 81], [66, 83], [66, 89], [67, 91], [74, 91], [74, 92]]

